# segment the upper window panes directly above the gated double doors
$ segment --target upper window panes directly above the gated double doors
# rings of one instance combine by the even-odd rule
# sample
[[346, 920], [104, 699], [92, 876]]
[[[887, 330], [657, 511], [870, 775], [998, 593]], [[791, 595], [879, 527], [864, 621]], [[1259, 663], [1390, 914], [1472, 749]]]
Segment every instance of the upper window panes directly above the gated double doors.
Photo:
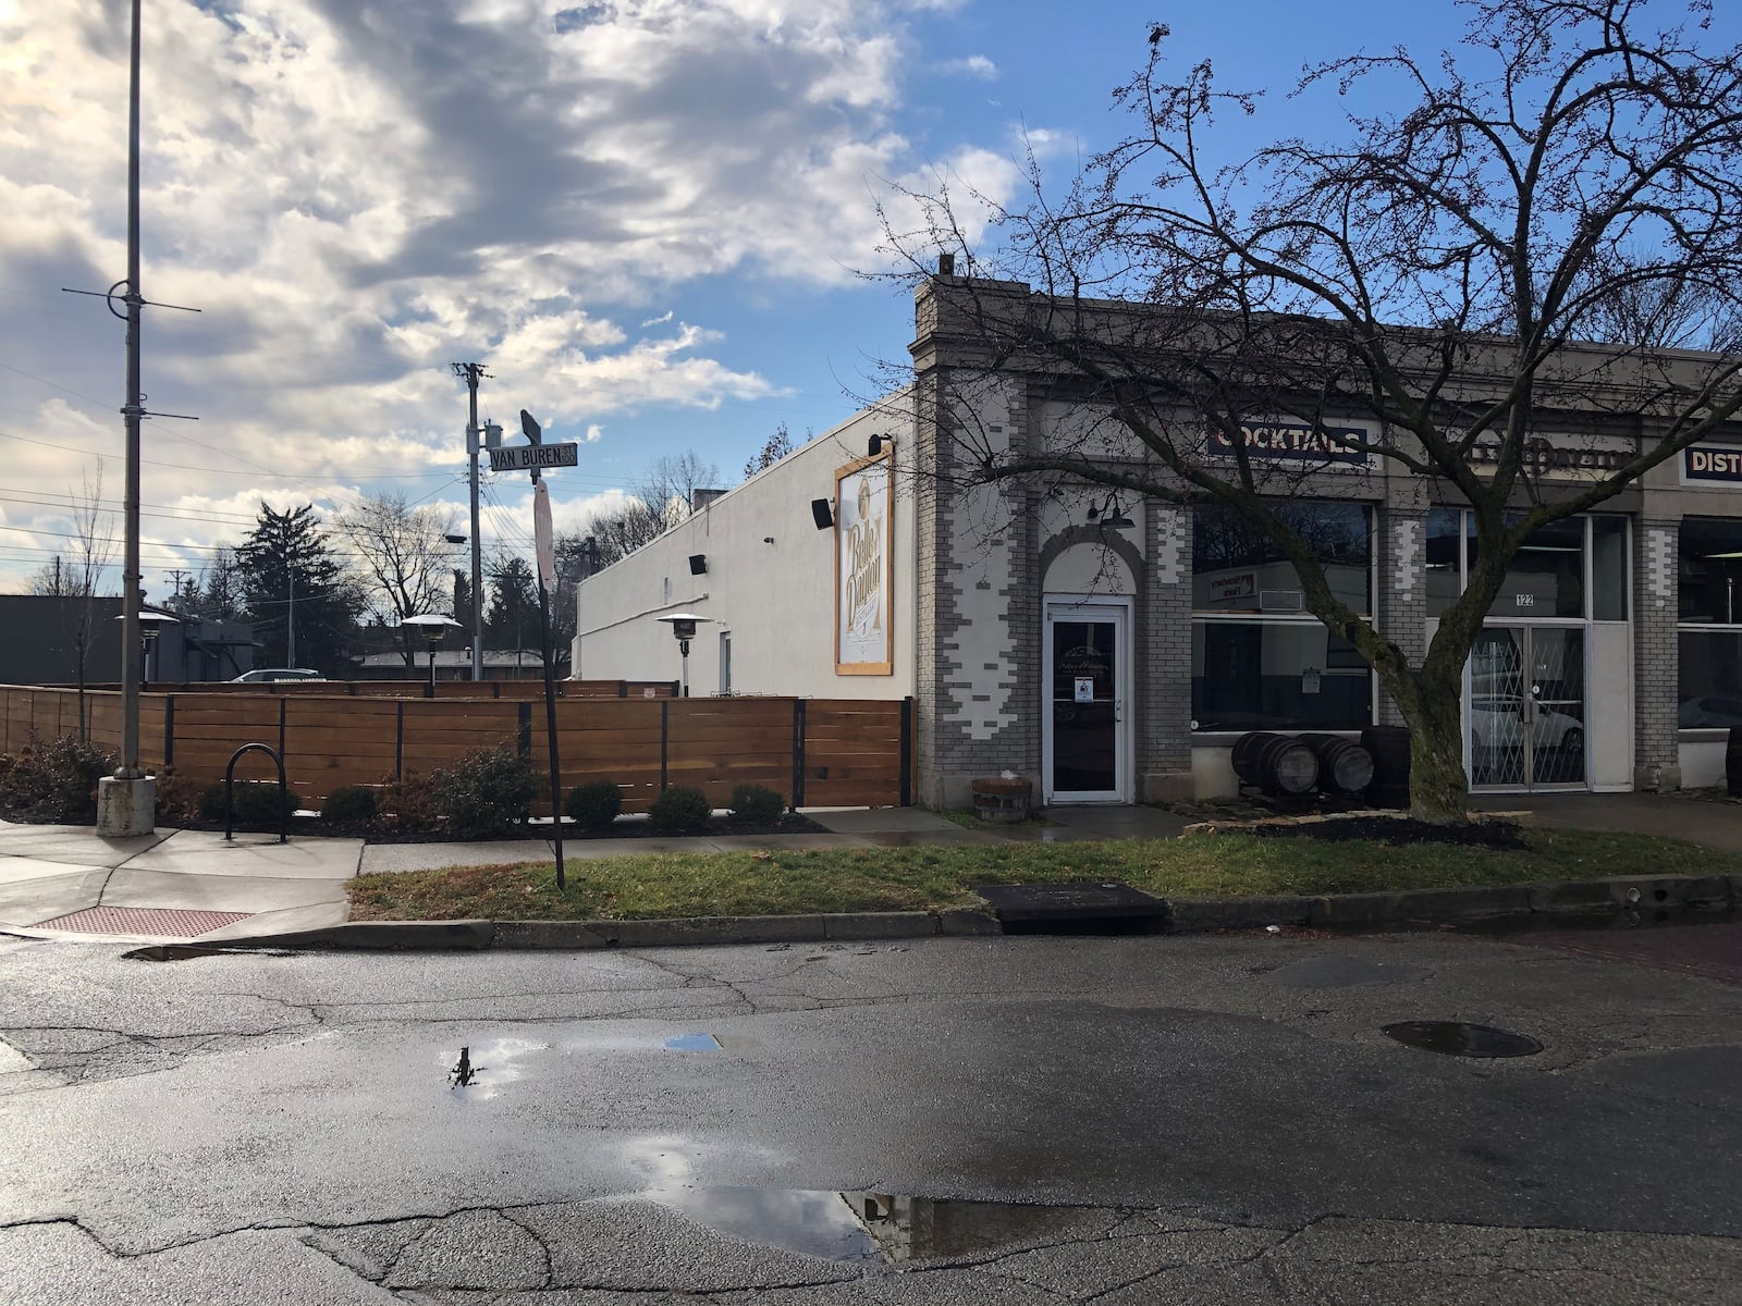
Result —
[[[1475, 522], [1465, 508], [1427, 521], [1427, 613], [1441, 616], [1475, 566]], [[1627, 519], [1568, 517], [1531, 533], [1507, 562], [1489, 620], [1543, 616], [1627, 620]]]

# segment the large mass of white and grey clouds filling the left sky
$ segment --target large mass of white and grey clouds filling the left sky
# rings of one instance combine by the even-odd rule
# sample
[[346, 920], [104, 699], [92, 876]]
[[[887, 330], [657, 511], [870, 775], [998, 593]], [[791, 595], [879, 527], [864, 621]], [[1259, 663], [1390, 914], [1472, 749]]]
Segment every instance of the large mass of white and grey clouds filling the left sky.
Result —
[[[143, 289], [204, 310], [146, 313], [150, 406], [202, 418], [148, 427], [146, 496], [183, 505], [159, 543], [233, 542], [261, 495], [444, 484], [456, 360], [587, 442], [613, 414], [782, 394], [678, 296], [719, 277], [808, 293], [876, 263], [883, 179], [925, 176], [897, 127], [923, 66], [904, 23], [951, 3], [148, 5]], [[0, 3], [0, 359], [82, 395], [0, 373], [0, 434], [44, 442], [5, 442], [7, 482], [42, 500], [98, 453], [118, 496], [120, 329], [59, 293], [125, 266], [118, 12]], [[1016, 183], [979, 150], [939, 167], [993, 199]], [[662, 300], [679, 308], [650, 315]], [[0, 583], [26, 547], [52, 555], [5, 507]]]

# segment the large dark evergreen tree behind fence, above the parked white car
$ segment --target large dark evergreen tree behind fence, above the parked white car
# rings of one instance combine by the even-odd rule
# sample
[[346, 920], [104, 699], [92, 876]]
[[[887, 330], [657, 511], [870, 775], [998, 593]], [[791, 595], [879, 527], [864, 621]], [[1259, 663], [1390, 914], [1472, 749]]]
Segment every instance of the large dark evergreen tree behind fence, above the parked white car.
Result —
[[235, 550], [235, 571], [254, 639], [265, 646], [261, 665], [315, 667], [333, 677], [348, 672], [362, 587], [333, 557], [312, 503], [289, 512], [261, 503], [254, 529]]

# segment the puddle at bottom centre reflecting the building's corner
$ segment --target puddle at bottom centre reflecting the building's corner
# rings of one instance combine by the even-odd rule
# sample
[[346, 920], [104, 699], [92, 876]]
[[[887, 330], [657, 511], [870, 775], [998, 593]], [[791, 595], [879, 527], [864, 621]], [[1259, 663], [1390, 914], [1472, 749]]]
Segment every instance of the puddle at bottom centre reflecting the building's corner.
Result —
[[1108, 1219], [1096, 1207], [801, 1188], [655, 1188], [639, 1196], [747, 1242], [854, 1262], [976, 1256], [1101, 1228]]

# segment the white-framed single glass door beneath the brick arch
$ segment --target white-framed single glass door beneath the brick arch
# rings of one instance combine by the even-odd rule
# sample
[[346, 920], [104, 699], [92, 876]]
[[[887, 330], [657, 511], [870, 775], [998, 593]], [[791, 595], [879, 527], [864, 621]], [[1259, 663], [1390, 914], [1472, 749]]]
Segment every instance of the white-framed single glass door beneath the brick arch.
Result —
[[1047, 801], [1129, 801], [1125, 609], [1049, 604], [1047, 648]]

